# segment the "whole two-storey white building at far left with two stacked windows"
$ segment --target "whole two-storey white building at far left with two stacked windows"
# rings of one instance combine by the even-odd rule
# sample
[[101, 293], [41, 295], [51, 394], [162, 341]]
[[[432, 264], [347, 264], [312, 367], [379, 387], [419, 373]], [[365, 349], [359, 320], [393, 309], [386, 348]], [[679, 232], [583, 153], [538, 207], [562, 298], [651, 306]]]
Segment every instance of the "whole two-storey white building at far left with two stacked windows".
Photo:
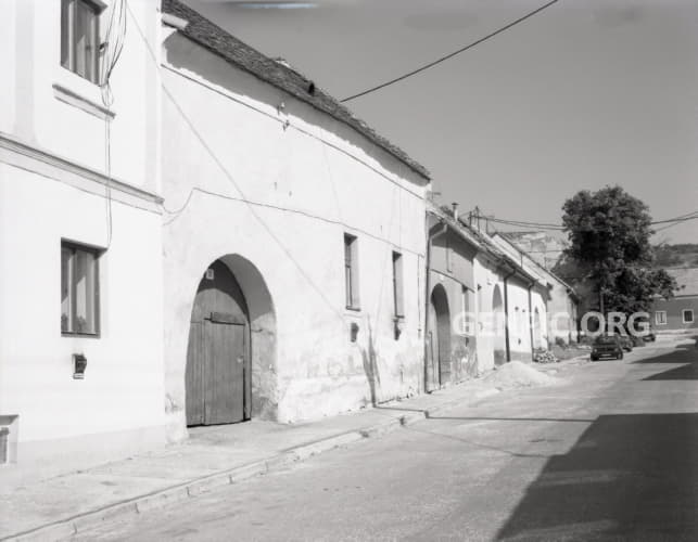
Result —
[[[128, 8], [153, 41], [157, 4]], [[125, 10], [0, 3], [3, 482], [164, 442], [158, 91]]]

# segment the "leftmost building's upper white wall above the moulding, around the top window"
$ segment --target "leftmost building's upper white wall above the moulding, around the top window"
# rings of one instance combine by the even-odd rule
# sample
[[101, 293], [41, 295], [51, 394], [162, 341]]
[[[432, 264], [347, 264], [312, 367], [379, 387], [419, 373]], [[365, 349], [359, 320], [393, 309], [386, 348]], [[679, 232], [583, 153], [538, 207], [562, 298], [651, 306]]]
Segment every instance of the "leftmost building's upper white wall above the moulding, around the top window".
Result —
[[[111, 5], [101, 17], [105, 38]], [[124, 50], [112, 77], [115, 117], [111, 124], [112, 175], [157, 190], [157, 72], [148, 48], [160, 34], [156, 0], [128, 2]], [[154, 47], [158, 54], [157, 47]], [[0, 132], [99, 171], [105, 170], [105, 121], [54, 95], [54, 85], [102, 105], [100, 88], [61, 66], [61, 2], [0, 3]]]

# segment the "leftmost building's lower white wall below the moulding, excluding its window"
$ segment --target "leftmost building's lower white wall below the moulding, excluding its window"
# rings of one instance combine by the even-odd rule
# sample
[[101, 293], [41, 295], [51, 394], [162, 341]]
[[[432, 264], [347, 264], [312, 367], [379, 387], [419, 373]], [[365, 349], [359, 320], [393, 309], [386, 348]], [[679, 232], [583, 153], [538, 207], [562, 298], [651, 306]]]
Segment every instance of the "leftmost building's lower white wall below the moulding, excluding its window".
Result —
[[[0, 164], [0, 413], [20, 415], [21, 444], [162, 434], [161, 218], [117, 202], [112, 214], [99, 263], [101, 336], [64, 337], [61, 240], [106, 247], [105, 201]], [[84, 380], [73, 379], [74, 352], [87, 357]]]

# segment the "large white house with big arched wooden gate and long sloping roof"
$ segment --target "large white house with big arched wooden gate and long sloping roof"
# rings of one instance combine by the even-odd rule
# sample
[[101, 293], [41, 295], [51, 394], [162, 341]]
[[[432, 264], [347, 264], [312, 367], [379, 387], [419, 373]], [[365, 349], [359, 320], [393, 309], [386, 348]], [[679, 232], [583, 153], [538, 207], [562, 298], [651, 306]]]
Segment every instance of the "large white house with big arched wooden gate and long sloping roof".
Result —
[[288, 64], [163, 13], [169, 437], [422, 390], [428, 172]]

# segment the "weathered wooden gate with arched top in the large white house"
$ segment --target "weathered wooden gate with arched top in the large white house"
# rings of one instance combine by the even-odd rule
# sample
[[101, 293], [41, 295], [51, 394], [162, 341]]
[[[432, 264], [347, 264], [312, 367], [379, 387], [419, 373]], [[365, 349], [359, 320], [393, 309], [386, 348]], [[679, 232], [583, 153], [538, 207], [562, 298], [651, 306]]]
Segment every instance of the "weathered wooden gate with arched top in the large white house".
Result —
[[250, 420], [250, 313], [234, 275], [223, 261], [205, 271], [194, 298], [187, 349], [187, 425]]

